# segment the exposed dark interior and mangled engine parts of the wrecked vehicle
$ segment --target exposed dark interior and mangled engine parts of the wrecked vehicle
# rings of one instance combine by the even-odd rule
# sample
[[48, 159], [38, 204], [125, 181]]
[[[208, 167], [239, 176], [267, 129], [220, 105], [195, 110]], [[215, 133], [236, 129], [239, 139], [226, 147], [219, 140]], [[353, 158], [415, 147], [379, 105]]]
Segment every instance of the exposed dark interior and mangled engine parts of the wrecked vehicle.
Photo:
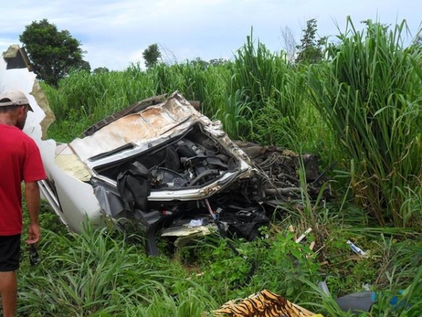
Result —
[[[259, 204], [260, 179], [252, 167], [247, 165], [245, 173], [239, 160], [199, 124], [130, 159], [95, 170], [117, 183], [114, 192], [122, 201], [122, 212], [112, 216], [139, 220], [152, 232], [217, 225], [252, 240], [269, 222]], [[104, 187], [101, 180], [94, 182]]]

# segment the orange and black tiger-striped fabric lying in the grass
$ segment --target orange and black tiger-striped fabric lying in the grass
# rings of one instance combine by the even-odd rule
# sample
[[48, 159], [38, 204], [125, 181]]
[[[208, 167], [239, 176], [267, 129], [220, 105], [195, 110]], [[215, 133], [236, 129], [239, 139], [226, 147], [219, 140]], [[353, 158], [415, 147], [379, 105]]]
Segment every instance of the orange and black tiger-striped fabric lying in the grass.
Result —
[[[217, 311], [213, 311], [216, 317], [316, 317], [306, 309], [289, 302], [269, 290], [262, 290], [252, 294], [241, 302], [227, 302]], [[322, 317], [322, 316], [321, 316]]]

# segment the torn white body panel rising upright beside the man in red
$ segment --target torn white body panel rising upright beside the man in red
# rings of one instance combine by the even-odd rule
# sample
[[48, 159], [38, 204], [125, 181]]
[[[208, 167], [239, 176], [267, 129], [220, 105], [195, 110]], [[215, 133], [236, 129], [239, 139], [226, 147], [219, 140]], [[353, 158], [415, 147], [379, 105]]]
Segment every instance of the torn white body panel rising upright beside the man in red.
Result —
[[[13, 53], [12, 47], [8, 54]], [[19, 52], [15, 51], [15, 54], [19, 54]], [[43, 139], [43, 136], [46, 135], [46, 128], [54, 120], [53, 114], [49, 110], [44, 93], [35, 77], [36, 75], [27, 68], [7, 69], [6, 61], [4, 58], [0, 58], [0, 92], [7, 89], [19, 89], [25, 93], [30, 101], [34, 112], [28, 113], [23, 131], [37, 143], [47, 176], [55, 181], [60, 204], [66, 214], [52, 200], [53, 197], [51, 197], [51, 192], [49, 192], [45, 182], [40, 182], [41, 193], [51, 203], [63, 223], [69, 225], [72, 230], [80, 231], [86, 218], [91, 218], [97, 224], [101, 222], [101, 209], [98, 199], [94, 195], [94, 190], [89, 184], [72, 177], [56, 166], [56, 142], [52, 139]], [[73, 195], [66, 194], [69, 192], [72, 192]]]

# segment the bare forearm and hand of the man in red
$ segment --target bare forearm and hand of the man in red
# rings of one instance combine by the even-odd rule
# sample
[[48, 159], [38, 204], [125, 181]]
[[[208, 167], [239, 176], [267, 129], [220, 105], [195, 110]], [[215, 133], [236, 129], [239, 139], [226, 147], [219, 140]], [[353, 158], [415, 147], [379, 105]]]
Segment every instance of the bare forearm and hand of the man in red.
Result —
[[39, 230], [39, 186], [38, 182], [25, 183], [25, 200], [27, 202], [28, 213], [30, 214], [30, 237], [27, 243], [39, 242], [41, 232]]

